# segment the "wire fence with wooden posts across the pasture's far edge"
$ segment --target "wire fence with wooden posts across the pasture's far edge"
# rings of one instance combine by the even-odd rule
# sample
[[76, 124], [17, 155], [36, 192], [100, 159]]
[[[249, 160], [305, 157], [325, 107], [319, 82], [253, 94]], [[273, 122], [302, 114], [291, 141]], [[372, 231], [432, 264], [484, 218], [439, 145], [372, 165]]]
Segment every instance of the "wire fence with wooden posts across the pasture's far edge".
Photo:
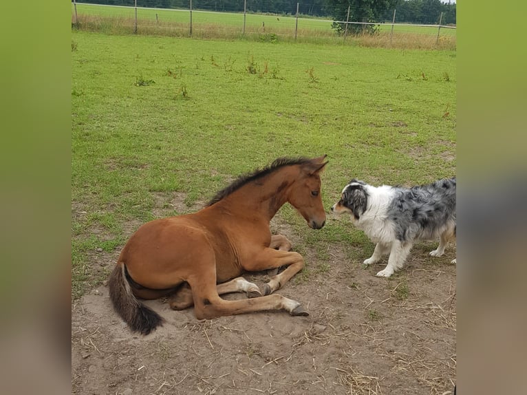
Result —
[[[313, 41], [324, 39], [345, 42], [352, 39], [349, 28], [352, 25], [374, 26], [376, 34], [369, 37], [373, 41], [385, 41], [394, 45], [396, 39], [408, 40], [424, 47], [455, 47], [455, 26], [442, 24], [442, 13], [438, 24], [397, 23], [396, 10], [391, 21], [383, 23], [350, 21], [351, 8], [347, 8], [345, 21], [324, 18], [308, 18], [299, 10], [296, 3], [293, 15], [255, 14], [248, 12], [247, 0], [243, 1], [241, 12], [215, 12], [195, 10], [193, 0], [189, 8], [151, 8], [137, 6], [112, 6], [72, 1], [72, 24], [87, 30], [110, 32], [130, 32], [134, 34], [161, 34], [170, 36], [191, 36], [196, 38], [255, 38], [259, 41]], [[196, 0], [195, 0], [196, 1]], [[335, 29], [336, 25], [344, 28]], [[367, 39], [365, 36], [363, 40]], [[443, 44], [443, 45], [441, 45]], [[419, 45], [418, 45], [419, 46]]]

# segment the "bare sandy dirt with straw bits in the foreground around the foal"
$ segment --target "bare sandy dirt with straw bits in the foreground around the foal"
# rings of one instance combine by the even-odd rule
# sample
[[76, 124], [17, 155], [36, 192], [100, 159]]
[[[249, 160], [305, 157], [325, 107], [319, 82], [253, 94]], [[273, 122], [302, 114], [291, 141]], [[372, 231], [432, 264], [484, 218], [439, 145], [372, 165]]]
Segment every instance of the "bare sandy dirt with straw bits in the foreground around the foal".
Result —
[[[271, 228], [295, 242], [280, 217]], [[92, 289], [72, 304], [72, 394], [449, 394], [455, 247], [432, 259], [435, 244], [418, 244], [391, 279], [375, 277], [386, 261], [363, 268], [367, 253], [349, 260], [350, 248], [329, 245], [323, 263], [330, 270], [278, 291], [301, 301], [309, 317], [261, 312], [199, 321], [192, 308], [145, 301], [166, 322], [142, 337], [114, 312], [106, 286]], [[100, 255], [94, 268], [113, 267], [114, 255]], [[306, 261], [321, 264], [311, 253]], [[246, 277], [266, 281], [263, 273]]]

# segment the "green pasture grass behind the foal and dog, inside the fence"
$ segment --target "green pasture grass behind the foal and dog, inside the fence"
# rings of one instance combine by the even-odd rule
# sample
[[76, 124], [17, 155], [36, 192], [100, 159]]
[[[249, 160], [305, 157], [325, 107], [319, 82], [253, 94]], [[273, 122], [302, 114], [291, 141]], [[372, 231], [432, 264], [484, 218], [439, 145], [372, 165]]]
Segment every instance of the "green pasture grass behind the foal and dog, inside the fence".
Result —
[[[74, 295], [107, 275], [94, 250], [122, 246], [158, 196], [208, 200], [279, 156], [328, 155], [328, 211], [352, 177], [455, 174], [455, 84], [453, 51], [72, 32]], [[312, 272], [328, 243], [372, 248], [347, 220], [311, 231], [290, 206], [279, 214], [295, 248], [316, 251]]]

